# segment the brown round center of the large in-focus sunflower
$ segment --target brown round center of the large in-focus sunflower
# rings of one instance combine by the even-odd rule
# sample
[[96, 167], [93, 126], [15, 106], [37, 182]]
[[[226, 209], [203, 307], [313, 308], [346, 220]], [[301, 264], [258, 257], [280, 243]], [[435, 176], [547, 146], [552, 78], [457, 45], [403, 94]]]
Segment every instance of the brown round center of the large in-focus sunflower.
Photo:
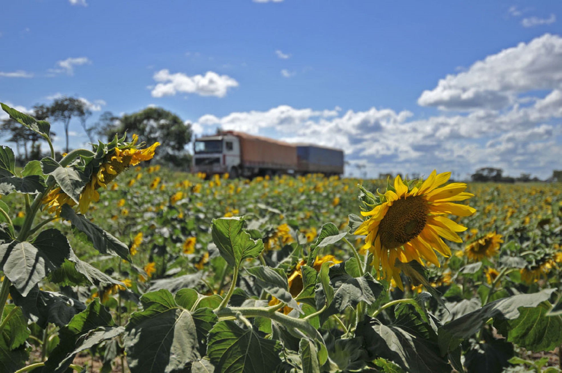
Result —
[[428, 212], [422, 196], [394, 201], [379, 223], [380, 244], [395, 249], [415, 239], [425, 227]]

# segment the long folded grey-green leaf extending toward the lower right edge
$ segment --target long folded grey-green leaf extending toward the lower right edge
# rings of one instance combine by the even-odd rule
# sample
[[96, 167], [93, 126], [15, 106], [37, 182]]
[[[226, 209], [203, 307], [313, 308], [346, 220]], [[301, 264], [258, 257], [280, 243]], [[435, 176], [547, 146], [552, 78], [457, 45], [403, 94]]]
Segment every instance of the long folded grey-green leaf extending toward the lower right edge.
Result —
[[514, 320], [519, 317], [519, 307], [537, 307], [550, 298], [555, 289], [545, 289], [534, 294], [520, 294], [490, 302], [476, 311], [439, 327], [439, 348], [442, 354], [454, 350], [459, 343], [481, 329], [484, 322], [495, 320]]

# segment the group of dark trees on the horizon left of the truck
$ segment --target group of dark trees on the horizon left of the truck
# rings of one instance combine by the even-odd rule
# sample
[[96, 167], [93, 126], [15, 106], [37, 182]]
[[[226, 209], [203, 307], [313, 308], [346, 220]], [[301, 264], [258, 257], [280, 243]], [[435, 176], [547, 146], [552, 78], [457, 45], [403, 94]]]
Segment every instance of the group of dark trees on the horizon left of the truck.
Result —
[[[139, 141], [144, 141], [148, 145], [156, 141], [160, 142], [153, 162], [180, 169], [188, 169], [191, 164], [191, 155], [185, 149], [192, 137], [191, 124], [184, 123], [178, 115], [161, 107], [148, 107], [123, 116], [116, 116], [106, 111], [99, 116], [94, 125], [88, 126], [87, 122], [92, 111], [87, 102], [76, 97], [64, 96], [56, 98], [50, 105], [34, 105], [30, 115], [38, 120], [64, 125], [65, 152], [71, 150], [69, 128], [72, 120], [77, 119], [92, 143], [97, 142], [98, 139], [111, 141], [115, 135], [121, 137], [124, 133], [127, 133], [130, 140], [132, 134], [138, 134]], [[7, 137], [5, 141], [15, 143], [18, 163], [25, 164], [30, 160], [38, 160], [46, 156], [41, 151], [41, 143], [44, 140], [15, 120], [10, 118], [2, 120], [0, 133]], [[51, 135], [55, 136], [55, 133], [51, 132]]]

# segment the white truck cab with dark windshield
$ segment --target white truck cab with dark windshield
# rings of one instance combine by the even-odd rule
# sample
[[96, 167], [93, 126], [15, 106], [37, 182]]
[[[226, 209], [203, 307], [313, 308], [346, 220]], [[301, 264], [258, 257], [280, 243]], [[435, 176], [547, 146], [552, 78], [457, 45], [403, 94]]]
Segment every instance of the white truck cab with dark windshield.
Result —
[[231, 134], [197, 138], [193, 145], [193, 172], [239, 176], [240, 141]]

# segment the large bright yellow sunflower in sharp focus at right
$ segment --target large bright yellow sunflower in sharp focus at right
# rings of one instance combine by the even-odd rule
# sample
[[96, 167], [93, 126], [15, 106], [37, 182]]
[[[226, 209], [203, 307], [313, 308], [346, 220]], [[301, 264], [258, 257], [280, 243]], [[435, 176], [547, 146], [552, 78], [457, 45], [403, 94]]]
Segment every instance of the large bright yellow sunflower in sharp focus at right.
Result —
[[433, 170], [425, 181], [419, 180], [414, 185], [403, 182], [398, 175], [394, 187], [389, 185], [384, 194], [379, 194], [374, 208], [361, 212], [369, 218], [353, 234], [366, 235], [361, 251], [373, 253], [372, 264], [379, 271], [379, 278], [393, 278], [398, 287], [404, 289], [396, 260], [402, 263], [417, 260], [424, 265], [422, 259], [425, 259], [439, 266], [434, 250], [445, 257], [451, 256], [451, 250], [441, 237], [453, 242], [463, 241], [456, 232], [463, 232], [466, 227], [445, 215], [472, 215], [476, 211], [474, 208], [453, 201], [463, 201], [474, 195], [464, 192], [465, 183], [440, 187], [450, 177], [450, 172], [437, 174]]

